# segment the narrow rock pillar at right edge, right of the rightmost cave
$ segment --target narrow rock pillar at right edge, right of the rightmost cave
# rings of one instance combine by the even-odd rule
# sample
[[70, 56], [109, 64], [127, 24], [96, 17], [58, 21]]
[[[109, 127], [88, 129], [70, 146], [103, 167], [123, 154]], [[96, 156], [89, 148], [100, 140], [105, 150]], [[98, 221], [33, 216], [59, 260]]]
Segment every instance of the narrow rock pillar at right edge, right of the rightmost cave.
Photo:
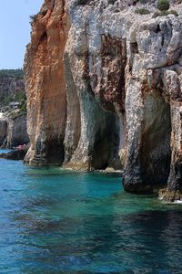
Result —
[[174, 201], [182, 199], [182, 103], [181, 103], [181, 74], [167, 69], [165, 84], [170, 96], [171, 106], [171, 164], [167, 180], [167, 190], [163, 197]]

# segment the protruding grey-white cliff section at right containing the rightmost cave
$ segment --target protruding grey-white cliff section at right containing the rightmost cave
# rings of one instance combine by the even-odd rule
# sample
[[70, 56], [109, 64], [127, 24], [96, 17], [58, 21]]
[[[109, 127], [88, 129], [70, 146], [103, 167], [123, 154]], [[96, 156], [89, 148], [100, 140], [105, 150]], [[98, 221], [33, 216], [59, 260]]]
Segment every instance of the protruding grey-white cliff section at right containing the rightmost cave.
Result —
[[[161, 17], [130, 27], [126, 37], [124, 187], [181, 195], [181, 22]], [[179, 59], [180, 58], [180, 59]]]

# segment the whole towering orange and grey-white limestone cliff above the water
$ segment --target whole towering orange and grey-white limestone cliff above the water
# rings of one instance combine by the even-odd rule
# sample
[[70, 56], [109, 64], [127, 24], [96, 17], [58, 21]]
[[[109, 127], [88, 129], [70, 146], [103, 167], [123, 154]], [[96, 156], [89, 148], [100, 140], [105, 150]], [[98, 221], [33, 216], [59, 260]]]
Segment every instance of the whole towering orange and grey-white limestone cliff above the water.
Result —
[[122, 155], [127, 191], [182, 197], [182, 5], [171, 6], [45, 1], [25, 57], [25, 162], [120, 168]]

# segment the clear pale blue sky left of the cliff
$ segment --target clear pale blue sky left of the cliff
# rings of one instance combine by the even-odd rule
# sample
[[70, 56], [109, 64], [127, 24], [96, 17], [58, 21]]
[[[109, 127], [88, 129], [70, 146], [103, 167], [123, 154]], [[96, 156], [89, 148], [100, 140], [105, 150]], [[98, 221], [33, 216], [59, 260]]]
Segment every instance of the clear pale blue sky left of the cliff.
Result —
[[44, 0], [0, 0], [0, 69], [22, 68], [30, 41], [30, 18]]

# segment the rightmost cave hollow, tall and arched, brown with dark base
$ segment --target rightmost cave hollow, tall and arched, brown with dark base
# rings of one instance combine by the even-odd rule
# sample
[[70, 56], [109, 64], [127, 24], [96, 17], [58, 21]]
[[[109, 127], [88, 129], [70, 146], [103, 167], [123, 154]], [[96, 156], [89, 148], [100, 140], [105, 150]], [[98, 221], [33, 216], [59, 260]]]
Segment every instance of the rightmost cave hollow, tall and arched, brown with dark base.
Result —
[[157, 91], [147, 95], [140, 149], [141, 178], [144, 184], [167, 184], [171, 162], [170, 105]]

